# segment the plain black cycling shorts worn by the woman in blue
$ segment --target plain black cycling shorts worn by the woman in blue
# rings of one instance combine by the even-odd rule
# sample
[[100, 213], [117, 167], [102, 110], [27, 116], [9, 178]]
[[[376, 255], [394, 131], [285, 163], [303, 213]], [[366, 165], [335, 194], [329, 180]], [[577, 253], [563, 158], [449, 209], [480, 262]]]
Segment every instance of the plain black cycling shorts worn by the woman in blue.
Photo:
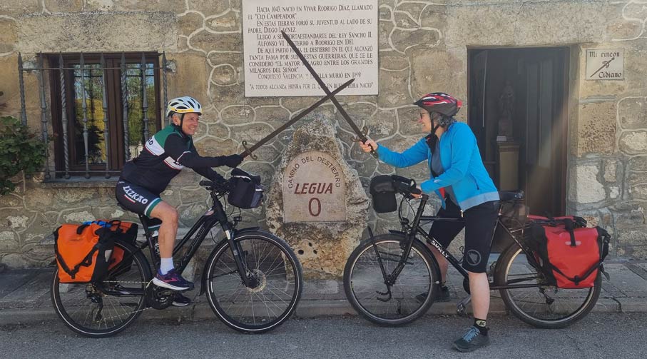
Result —
[[[447, 208], [440, 208], [436, 216], [444, 218], [461, 218], [461, 208], [447, 200]], [[429, 230], [432, 236], [444, 248], [454, 241], [454, 238], [465, 227], [465, 248], [463, 252], [463, 268], [472, 273], [485, 273], [487, 260], [492, 246], [492, 235], [499, 216], [499, 201], [489, 201], [469, 208], [463, 213], [464, 222], [435, 221]]]

